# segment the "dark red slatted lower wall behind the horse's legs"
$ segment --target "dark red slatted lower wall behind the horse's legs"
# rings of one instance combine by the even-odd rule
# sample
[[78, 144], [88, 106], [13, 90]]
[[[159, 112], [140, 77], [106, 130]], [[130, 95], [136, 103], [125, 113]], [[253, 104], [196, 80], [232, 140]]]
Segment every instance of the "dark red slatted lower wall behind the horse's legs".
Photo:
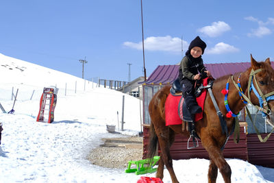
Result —
[[[247, 160], [251, 164], [260, 165], [263, 167], [274, 168], [274, 134], [269, 137], [266, 143], [261, 143], [257, 134], [246, 134], [244, 127], [240, 127], [240, 141], [234, 143], [233, 135], [229, 137], [223, 155], [225, 158], [238, 158]], [[267, 134], [262, 134], [264, 138]], [[188, 138], [177, 134], [175, 142], [171, 146], [171, 157], [174, 160], [190, 159], [190, 158], [205, 158], [209, 159], [208, 152], [201, 145], [195, 149], [187, 149]], [[147, 158], [149, 145], [149, 125], [143, 127], [143, 158]], [[160, 149], [158, 151], [160, 155]]]

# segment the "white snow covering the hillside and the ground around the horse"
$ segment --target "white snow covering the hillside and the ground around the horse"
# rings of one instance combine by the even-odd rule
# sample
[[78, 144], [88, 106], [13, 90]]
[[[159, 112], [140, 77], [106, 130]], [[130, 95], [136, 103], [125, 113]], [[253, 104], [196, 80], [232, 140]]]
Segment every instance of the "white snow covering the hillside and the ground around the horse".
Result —
[[[19, 69], [17, 69], [19, 68]], [[22, 69], [23, 71], [21, 71]], [[108, 169], [91, 164], [86, 157], [99, 147], [101, 138], [120, 137], [140, 132], [140, 101], [125, 95], [125, 131], [110, 134], [105, 125], [121, 121], [123, 93], [72, 75], [53, 71], [0, 54], [0, 102], [12, 109], [12, 87], [18, 90], [14, 114], [0, 112], [3, 123], [0, 145], [0, 182], [137, 182], [140, 176], [125, 169]], [[75, 93], [73, 84], [82, 89]], [[66, 84], [66, 85], [65, 85]], [[44, 86], [60, 86], [53, 123], [38, 123], [40, 95]], [[34, 93], [34, 95], [32, 95]], [[32, 99], [30, 97], [32, 96]], [[118, 111], [118, 116], [117, 116]], [[121, 126], [120, 126], [121, 130]], [[232, 168], [232, 182], [274, 182], [274, 169], [254, 166], [238, 159], [227, 159]], [[207, 182], [209, 161], [173, 160], [180, 182]], [[163, 181], [171, 182], [164, 170]], [[217, 182], [223, 182], [220, 173]]]

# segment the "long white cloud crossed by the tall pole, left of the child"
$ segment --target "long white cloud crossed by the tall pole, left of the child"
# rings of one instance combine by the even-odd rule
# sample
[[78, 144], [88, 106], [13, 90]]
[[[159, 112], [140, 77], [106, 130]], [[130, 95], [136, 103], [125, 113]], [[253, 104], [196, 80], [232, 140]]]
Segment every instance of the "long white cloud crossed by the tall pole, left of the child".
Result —
[[[185, 40], [182, 41], [181, 38], [172, 38], [171, 36], [163, 36], [163, 37], [148, 37], [144, 40], [144, 47], [149, 51], [171, 51], [181, 53], [183, 48], [188, 47], [188, 42]], [[124, 42], [123, 45], [126, 47], [131, 47], [134, 49], [142, 49], [142, 41], [141, 42]]]

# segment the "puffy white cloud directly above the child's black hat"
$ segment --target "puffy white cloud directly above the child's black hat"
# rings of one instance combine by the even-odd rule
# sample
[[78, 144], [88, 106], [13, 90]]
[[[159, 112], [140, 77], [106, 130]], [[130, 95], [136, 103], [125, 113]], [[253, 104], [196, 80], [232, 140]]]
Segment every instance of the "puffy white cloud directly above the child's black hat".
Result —
[[217, 37], [217, 36], [221, 36], [221, 34], [229, 31], [230, 29], [231, 28], [227, 23], [223, 21], [218, 21], [218, 22], [212, 23], [212, 25], [201, 27], [201, 29], [198, 29], [198, 31], [210, 37]]

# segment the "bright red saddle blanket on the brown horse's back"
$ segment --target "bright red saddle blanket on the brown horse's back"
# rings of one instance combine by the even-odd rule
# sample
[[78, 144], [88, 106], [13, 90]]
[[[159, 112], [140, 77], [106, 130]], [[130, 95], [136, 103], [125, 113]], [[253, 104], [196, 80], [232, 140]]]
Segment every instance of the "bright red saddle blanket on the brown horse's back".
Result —
[[[203, 86], [208, 85], [208, 78], [203, 80]], [[196, 98], [197, 103], [199, 106], [201, 106], [203, 110], [203, 104], [205, 103], [206, 99], [206, 93], [208, 90], [203, 90], [201, 95]], [[168, 125], [180, 125], [182, 124], [182, 119], [179, 117], [179, 110], [178, 110], [178, 105], [179, 105], [179, 100], [181, 99], [181, 95], [179, 96], [173, 96], [171, 93], [169, 96], [166, 98], [166, 103], [164, 104], [164, 112], [166, 114], [166, 126]], [[182, 101], [183, 103], [183, 101]], [[203, 112], [195, 114], [195, 121], [199, 121], [200, 119], [203, 119]]]

